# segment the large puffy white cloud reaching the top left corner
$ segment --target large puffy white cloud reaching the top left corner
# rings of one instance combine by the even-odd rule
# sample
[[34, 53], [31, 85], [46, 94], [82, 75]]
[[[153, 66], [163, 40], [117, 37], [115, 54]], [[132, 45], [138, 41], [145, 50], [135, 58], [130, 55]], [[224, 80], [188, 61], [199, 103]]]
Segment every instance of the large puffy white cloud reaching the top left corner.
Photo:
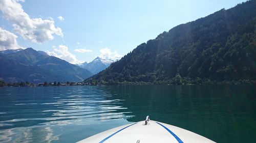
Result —
[[[35, 43], [42, 43], [53, 40], [53, 34], [63, 36], [62, 30], [55, 27], [54, 21], [50, 19], [43, 20], [42, 18], [30, 18], [24, 12], [22, 5], [18, 2], [20, 0], [1, 0], [0, 10], [3, 17], [13, 24], [13, 30], [22, 36], [24, 39], [31, 40]], [[22, 0], [21, 2], [24, 2]]]

